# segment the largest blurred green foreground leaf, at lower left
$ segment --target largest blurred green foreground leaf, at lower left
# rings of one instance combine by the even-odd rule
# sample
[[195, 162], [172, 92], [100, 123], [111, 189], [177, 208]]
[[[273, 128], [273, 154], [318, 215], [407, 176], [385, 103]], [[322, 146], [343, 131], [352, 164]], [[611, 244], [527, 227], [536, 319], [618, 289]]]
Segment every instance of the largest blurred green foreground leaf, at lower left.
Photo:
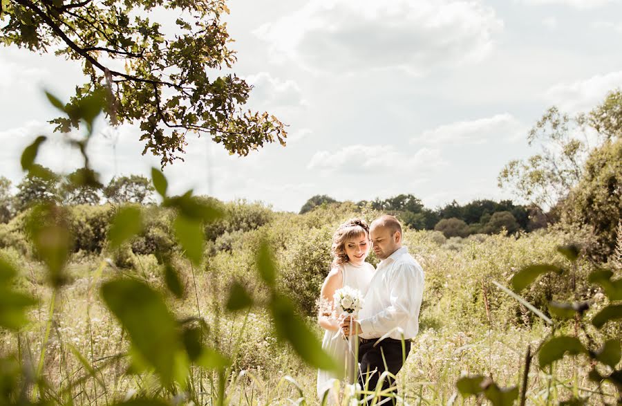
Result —
[[[184, 365], [180, 353], [178, 324], [156, 290], [135, 279], [115, 279], [101, 288], [106, 306], [120, 321], [131, 339], [132, 349], [140, 361], [151, 365], [165, 384]], [[180, 365], [181, 364], [181, 365]]]

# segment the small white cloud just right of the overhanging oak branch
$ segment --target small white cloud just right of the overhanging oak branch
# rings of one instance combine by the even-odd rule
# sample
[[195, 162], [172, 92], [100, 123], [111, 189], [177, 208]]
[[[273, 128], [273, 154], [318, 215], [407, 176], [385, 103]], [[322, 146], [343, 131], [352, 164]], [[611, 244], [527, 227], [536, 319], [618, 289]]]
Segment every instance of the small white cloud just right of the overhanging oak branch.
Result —
[[281, 80], [267, 72], [249, 75], [245, 80], [254, 86], [251, 98], [267, 106], [294, 107], [307, 104], [300, 86], [293, 80]]

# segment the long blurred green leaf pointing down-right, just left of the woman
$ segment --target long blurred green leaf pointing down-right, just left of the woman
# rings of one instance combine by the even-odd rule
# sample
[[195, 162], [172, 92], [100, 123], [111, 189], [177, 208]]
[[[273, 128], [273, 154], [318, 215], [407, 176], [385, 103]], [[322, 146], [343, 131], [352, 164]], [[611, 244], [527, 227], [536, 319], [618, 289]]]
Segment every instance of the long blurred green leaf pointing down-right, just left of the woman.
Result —
[[322, 349], [313, 331], [296, 314], [289, 299], [275, 293], [269, 306], [276, 335], [289, 342], [303, 361], [325, 371], [339, 370], [334, 360]]

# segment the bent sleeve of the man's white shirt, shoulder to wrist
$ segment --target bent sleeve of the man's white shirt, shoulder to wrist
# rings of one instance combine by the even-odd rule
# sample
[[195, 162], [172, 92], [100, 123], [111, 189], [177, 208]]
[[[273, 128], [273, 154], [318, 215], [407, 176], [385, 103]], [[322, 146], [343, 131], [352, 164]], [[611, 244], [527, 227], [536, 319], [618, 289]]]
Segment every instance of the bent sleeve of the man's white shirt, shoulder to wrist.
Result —
[[424, 286], [423, 272], [413, 264], [399, 264], [391, 273], [393, 275], [388, 277], [389, 295], [385, 299], [384, 308], [375, 315], [359, 320], [365, 335], [381, 337], [391, 331], [395, 332], [398, 327], [404, 329], [407, 326], [411, 326], [410, 329], [407, 328], [411, 332], [412, 327], [418, 331]]

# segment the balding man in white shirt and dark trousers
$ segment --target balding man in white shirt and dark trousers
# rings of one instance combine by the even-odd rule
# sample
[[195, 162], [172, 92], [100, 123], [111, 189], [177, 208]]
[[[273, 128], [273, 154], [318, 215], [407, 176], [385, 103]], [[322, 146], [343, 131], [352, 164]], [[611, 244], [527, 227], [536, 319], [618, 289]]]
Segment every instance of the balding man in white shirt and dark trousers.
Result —
[[[411, 338], [419, 331], [424, 273], [408, 254], [408, 248], [402, 246], [402, 225], [394, 216], [373, 221], [369, 234], [381, 261], [365, 295], [359, 320], [350, 323], [348, 318], [341, 323], [341, 329], [346, 335], [359, 335], [359, 384], [364, 388], [367, 382], [368, 390], [374, 391], [381, 373], [388, 370], [395, 376], [411, 351]], [[384, 335], [387, 337], [376, 344]], [[382, 389], [392, 385], [395, 380], [387, 377]]]

